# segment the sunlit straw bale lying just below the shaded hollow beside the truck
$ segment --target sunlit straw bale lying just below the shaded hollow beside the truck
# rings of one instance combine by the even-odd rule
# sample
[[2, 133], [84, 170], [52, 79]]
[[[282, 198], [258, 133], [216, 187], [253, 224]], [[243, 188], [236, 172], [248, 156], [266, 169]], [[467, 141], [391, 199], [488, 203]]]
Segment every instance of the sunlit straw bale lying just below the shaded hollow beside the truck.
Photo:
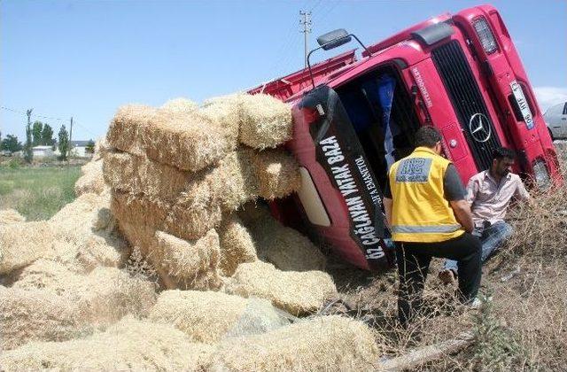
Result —
[[280, 271], [262, 261], [239, 265], [227, 280], [226, 291], [245, 298], [269, 299], [293, 315], [313, 313], [326, 298], [337, 294], [335, 283], [327, 273]]

